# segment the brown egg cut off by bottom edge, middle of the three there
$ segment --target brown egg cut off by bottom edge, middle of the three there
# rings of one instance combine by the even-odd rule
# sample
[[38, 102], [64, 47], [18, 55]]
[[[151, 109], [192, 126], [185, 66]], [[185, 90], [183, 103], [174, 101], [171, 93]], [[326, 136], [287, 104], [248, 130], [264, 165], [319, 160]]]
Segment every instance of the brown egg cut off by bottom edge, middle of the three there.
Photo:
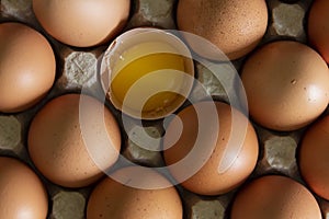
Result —
[[[115, 178], [125, 178], [126, 183], [118, 183]], [[114, 172], [91, 193], [87, 219], [182, 219], [181, 199], [173, 186], [158, 189], [129, 186], [136, 182], [143, 184], [148, 181], [161, 183], [167, 180], [150, 169], [140, 170], [137, 166]]]

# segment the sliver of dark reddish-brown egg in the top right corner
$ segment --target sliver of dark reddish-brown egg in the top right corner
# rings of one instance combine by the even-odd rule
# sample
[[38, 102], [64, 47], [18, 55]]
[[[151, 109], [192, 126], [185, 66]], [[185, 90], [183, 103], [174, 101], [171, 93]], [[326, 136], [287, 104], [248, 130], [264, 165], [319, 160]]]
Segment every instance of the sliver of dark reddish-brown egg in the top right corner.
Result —
[[311, 4], [307, 32], [309, 43], [321, 54], [324, 59], [329, 64], [329, 1], [316, 0]]

